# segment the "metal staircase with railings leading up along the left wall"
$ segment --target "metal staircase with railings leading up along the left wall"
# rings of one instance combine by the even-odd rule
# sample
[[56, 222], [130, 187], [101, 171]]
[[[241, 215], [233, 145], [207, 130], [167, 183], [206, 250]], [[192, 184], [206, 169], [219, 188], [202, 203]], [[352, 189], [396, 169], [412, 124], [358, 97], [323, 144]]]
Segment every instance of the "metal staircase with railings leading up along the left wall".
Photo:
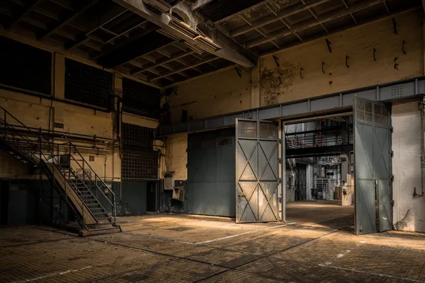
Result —
[[115, 233], [115, 194], [71, 142], [54, 144], [41, 130], [24, 125], [0, 106], [0, 144], [6, 153], [50, 180], [67, 209], [58, 209], [61, 228], [77, 230], [80, 236]]

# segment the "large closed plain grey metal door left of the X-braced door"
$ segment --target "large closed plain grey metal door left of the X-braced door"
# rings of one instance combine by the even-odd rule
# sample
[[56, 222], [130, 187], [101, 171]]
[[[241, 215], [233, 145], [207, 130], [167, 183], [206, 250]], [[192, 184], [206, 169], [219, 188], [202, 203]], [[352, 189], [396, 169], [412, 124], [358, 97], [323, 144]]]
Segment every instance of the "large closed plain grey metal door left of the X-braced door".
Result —
[[187, 209], [235, 216], [234, 129], [188, 135]]

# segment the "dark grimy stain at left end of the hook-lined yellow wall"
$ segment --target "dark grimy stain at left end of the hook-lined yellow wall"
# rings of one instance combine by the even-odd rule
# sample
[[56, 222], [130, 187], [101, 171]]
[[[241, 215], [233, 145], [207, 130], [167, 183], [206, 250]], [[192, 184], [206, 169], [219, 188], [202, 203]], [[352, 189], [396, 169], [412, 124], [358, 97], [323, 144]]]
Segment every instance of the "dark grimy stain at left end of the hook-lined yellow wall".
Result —
[[285, 94], [285, 90], [293, 85], [295, 79], [295, 70], [297, 66], [290, 62], [279, 62], [275, 68], [264, 67], [261, 69], [260, 84], [261, 105], [273, 105], [278, 103], [279, 96]]

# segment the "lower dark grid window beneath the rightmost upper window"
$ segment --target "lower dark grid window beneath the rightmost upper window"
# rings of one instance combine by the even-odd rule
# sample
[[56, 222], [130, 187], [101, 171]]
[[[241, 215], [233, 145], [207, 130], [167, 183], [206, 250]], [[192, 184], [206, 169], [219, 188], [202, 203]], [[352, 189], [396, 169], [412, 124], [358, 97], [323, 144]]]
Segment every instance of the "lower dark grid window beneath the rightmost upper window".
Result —
[[157, 180], [158, 151], [154, 151], [154, 129], [123, 123], [123, 180]]

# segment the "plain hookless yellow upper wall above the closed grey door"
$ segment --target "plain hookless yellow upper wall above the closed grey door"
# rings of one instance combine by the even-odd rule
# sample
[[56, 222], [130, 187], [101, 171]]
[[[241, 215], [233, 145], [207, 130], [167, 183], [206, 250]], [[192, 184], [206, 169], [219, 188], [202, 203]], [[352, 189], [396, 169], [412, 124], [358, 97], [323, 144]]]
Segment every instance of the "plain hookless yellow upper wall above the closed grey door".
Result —
[[236, 112], [251, 108], [251, 74], [242, 69], [227, 69], [211, 76], [188, 81], [171, 93], [171, 122], [181, 121], [181, 110], [187, 110], [193, 119]]

